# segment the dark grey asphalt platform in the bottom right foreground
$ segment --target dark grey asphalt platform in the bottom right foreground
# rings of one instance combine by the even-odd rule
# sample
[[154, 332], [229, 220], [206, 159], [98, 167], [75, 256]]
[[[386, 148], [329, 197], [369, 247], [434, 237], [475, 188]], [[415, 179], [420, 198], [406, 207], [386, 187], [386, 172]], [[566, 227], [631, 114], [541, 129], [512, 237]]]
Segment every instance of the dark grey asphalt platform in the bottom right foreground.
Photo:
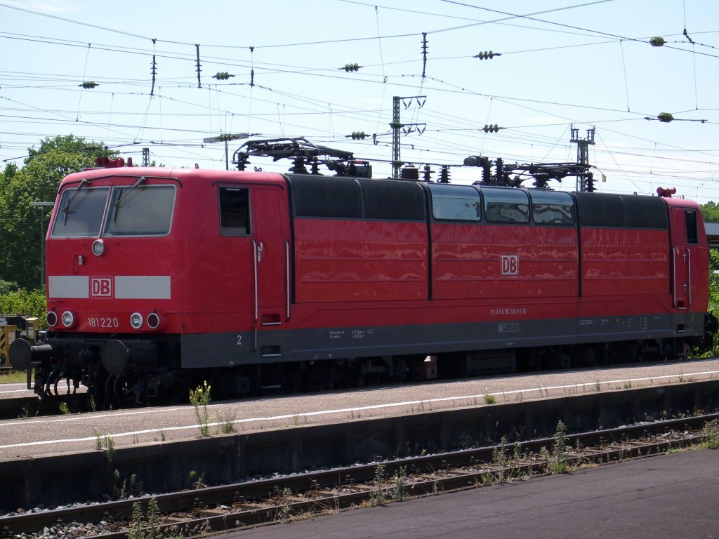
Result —
[[223, 537], [719, 538], [719, 451], [687, 451], [610, 464]]

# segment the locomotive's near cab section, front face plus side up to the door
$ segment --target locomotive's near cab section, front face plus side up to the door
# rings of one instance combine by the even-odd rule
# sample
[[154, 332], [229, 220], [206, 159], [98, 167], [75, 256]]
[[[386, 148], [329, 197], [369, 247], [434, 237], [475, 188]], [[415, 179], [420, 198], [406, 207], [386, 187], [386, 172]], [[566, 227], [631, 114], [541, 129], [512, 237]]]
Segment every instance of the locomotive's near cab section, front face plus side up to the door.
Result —
[[[280, 175], [116, 167], [68, 176], [45, 240], [49, 331], [41, 346], [19, 341], [14, 366], [35, 364], [43, 397], [66, 380], [103, 405], [177, 400], [207, 369], [277, 356], [281, 343], [264, 344], [252, 328], [288, 316], [286, 216]], [[218, 380], [244, 392], [245, 378]]]

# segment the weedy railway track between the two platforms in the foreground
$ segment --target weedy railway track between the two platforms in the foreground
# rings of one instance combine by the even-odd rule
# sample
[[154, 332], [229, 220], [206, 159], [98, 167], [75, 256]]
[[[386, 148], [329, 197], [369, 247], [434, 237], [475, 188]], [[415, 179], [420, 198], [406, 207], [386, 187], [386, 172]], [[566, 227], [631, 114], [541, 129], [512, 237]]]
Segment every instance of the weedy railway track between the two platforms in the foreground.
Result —
[[[708, 426], [707, 426], [708, 425]], [[103, 522], [105, 539], [127, 537], [133, 505], [159, 512], [163, 533], [196, 537], [244, 526], [289, 520], [295, 515], [336, 512], [457, 489], [505, 482], [520, 476], [561, 473], [581, 464], [658, 455], [719, 438], [719, 414], [664, 420], [610, 430], [557, 436], [521, 443], [473, 448], [348, 468], [277, 476], [96, 505], [0, 517], [2, 538], [15, 538], [51, 527], [58, 537], [81, 537], [87, 526]], [[66, 525], [60, 523], [68, 523]], [[70, 524], [82, 522], [83, 524]], [[147, 524], [148, 522], [145, 522]], [[64, 531], [63, 531], [64, 529]], [[54, 531], [53, 531], [54, 530]], [[75, 530], [75, 531], [73, 531]], [[83, 530], [76, 532], [76, 530]], [[94, 535], [93, 532], [91, 535]], [[32, 537], [32, 535], [26, 535]]]

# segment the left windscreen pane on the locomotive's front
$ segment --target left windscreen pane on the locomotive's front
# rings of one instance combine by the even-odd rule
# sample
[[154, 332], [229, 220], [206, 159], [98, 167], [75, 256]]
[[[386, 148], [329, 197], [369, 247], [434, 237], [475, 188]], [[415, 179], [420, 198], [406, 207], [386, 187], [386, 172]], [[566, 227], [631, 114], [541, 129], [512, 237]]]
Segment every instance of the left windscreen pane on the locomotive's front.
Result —
[[60, 207], [55, 210], [53, 238], [97, 237], [100, 235], [109, 188], [91, 188], [81, 185], [65, 189]]

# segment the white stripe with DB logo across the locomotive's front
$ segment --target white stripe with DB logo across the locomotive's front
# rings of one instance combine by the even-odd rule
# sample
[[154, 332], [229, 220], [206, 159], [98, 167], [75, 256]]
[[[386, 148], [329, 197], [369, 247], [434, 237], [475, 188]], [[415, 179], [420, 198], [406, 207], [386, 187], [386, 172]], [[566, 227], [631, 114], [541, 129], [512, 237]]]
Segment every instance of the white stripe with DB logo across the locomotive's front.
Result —
[[[95, 280], [110, 280], [109, 291], [93, 292]], [[50, 275], [47, 295], [51, 299], [115, 298], [119, 300], [169, 300], [169, 275], [117, 275], [88, 277], [84, 275]]]

